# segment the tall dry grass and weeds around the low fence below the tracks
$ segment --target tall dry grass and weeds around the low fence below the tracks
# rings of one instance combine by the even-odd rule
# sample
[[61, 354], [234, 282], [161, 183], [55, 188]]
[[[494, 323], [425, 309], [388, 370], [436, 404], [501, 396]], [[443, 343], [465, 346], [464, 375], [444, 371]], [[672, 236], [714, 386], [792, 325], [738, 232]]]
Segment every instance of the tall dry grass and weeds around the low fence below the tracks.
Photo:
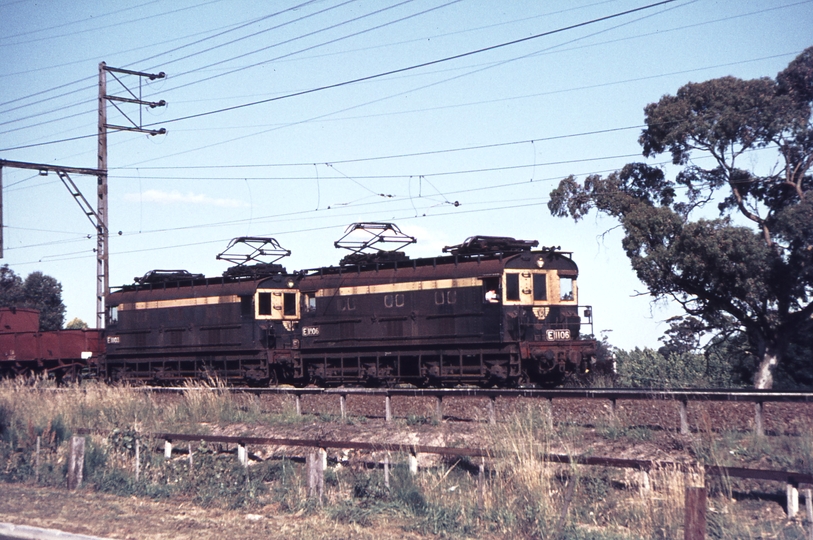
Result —
[[[160, 441], [148, 432], [201, 433], [214, 426], [286, 425], [318, 421], [360, 425], [365, 417], [296, 414], [292, 401], [278, 410], [253, 395], [235, 394], [213, 381], [189, 384], [178, 399], [128, 387], [97, 384], [56, 392], [49, 381], [0, 381], [0, 480], [63, 486], [68, 440], [79, 427], [98, 433], [87, 438], [85, 490], [154, 500], [182, 499], [204, 508], [323, 516], [341, 524], [375, 528], [392, 519], [405, 533], [440, 537], [575, 538], [595, 540], [679, 538], [686, 485], [706, 482], [699, 474], [670, 469], [639, 472], [547, 463], [551, 448], [579, 454], [585, 429], [567, 418], [554, 423], [550, 405], [525, 402], [494, 426], [483, 427], [484, 447], [507, 457], [440, 460], [409, 473], [405, 457], [392, 455], [390, 484], [384, 484], [382, 455], [331, 464], [321, 503], [308, 499], [302, 460], [270, 456], [238, 464], [217, 445], [192, 444], [165, 460]], [[426, 416], [407, 416], [402, 428], [426, 426]], [[619, 414], [596, 421], [599, 437], [623, 445], [649, 442], [648, 427], [630, 427]], [[708, 429], [706, 429], [708, 428]], [[34, 453], [40, 439], [39, 467]], [[700, 426], [685, 443], [700, 464], [769, 461], [776, 468], [811, 472], [813, 435], [754, 437], [716, 433]], [[136, 450], [139, 478], [134, 475]], [[480, 476], [480, 465], [485, 474]], [[753, 523], [737, 517], [733, 499], [747, 492], [728, 479], [708, 481], [711, 538], [803, 538], [801, 523]], [[773, 486], [781, 494], [783, 486]], [[787, 525], [787, 526], [786, 526]]]

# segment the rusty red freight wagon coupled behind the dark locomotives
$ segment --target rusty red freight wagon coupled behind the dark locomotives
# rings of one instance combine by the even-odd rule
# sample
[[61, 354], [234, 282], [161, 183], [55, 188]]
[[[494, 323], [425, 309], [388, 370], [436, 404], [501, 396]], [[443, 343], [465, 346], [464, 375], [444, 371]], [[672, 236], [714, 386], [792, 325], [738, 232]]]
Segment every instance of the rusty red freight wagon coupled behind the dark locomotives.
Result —
[[75, 380], [93, 372], [104, 349], [99, 330], [39, 331], [39, 311], [0, 308], [0, 376], [52, 374]]

